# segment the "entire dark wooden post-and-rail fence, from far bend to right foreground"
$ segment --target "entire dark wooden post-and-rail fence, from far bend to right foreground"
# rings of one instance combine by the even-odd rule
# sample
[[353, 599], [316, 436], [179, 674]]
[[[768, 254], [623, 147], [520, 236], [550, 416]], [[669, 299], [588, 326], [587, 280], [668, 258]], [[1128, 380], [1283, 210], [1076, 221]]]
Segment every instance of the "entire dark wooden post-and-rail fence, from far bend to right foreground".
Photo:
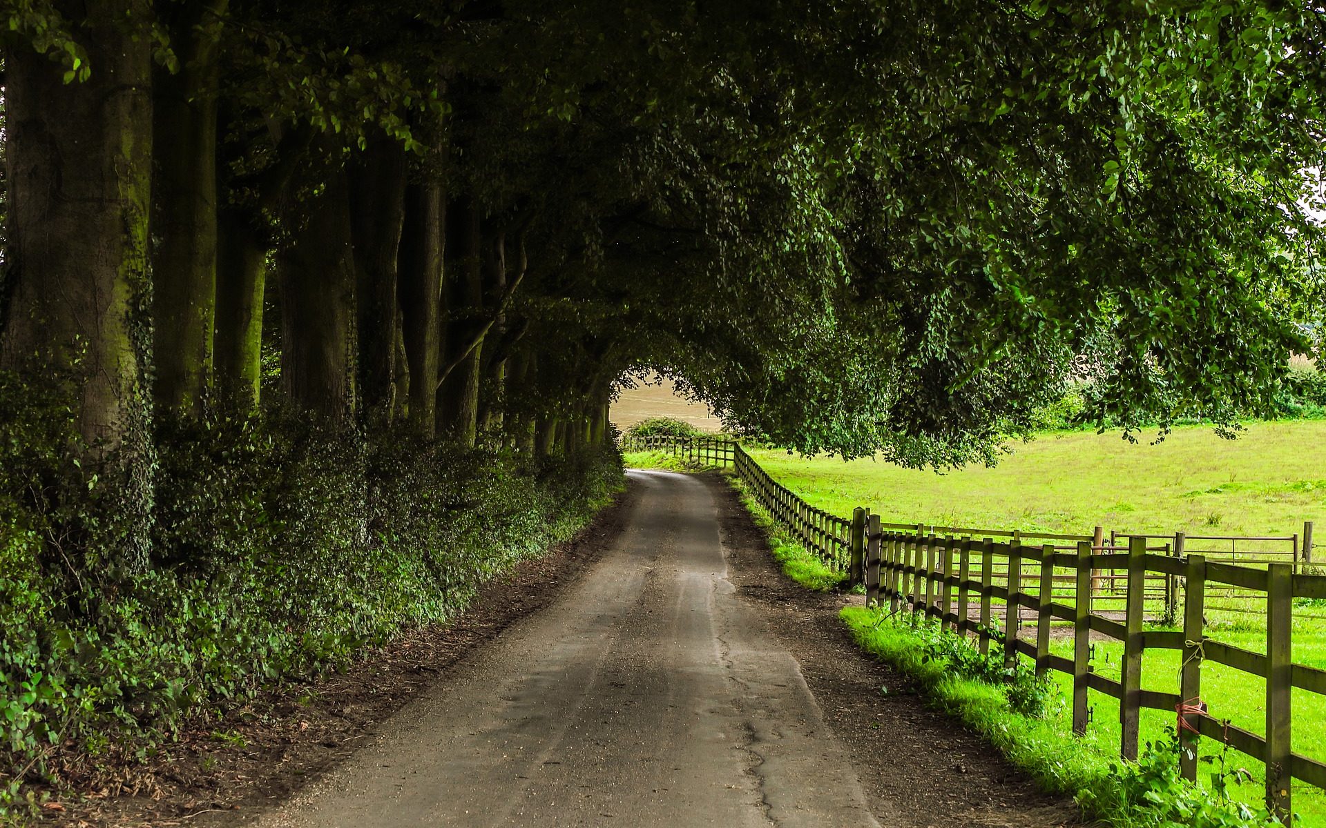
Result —
[[[1038, 674], [1071, 676], [1074, 733], [1086, 731], [1089, 693], [1095, 690], [1119, 701], [1119, 754], [1126, 759], [1138, 756], [1142, 709], [1166, 710], [1175, 714], [1187, 779], [1196, 779], [1197, 746], [1205, 737], [1265, 763], [1266, 800], [1281, 815], [1290, 813], [1292, 779], [1326, 788], [1326, 763], [1294, 752], [1292, 739], [1292, 690], [1326, 696], [1326, 670], [1293, 661], [1294, 599], [1326, 599], [1326, 576], [1297, 571], [1310, 562], [1311, 523], [1305, 525], [1302, 552], [1294, 538], [1292, 560], [1270, 558], [1253, 566], [1211, 560], [1184, 548], [1181, 534], [1174, 544], [1168, 535], [1114, 535], [1106, 544], [1099, 530], [1055, 535], [882, 523], [866, 507], [857, 507], [851, 518], [817, 509], [773, 480], [740, 445], [713, 442], [705, 439], [672, 450], [713, 457], [715, 465], [732, 462], [776, 522], [830, 567], [865, 584], [867, 604], [887, 603], [894, 612], [936, 619], [955, 635], [971, 637], [981, 652], [994, 643], [1005, 661], [1025, 656]], [[1203, 538], [1212, 539], [1229, 538]], [[1266, 617], [1265, 653], [1207, 635], [1207, 597], [1227, 590], [1256, 596]], [[1158, 619], [1181, 629], [1143, 628]], [[1055, 624], [1071, 624], [1071, 658], [1050, 652]], [[1118, 681], [1091, 669], [1093, 636], [1123, 643]], [[1179, 693], [1142, 686], [1143, 654], [1160, 649], [1181, 652]], [[1219, 699], [1203, 698], [1205, 662], [1265, 680], [1265, 735], [1231, 725], [1220, 718]]]

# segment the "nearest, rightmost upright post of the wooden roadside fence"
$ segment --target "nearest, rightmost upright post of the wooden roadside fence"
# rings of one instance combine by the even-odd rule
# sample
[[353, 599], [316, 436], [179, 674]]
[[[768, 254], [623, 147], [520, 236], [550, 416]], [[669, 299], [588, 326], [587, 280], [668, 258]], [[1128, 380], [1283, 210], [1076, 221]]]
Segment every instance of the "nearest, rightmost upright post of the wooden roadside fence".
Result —
[[1294, 567], [1266, 567], [1266, 804], [1290, 815], [1290, 689], [1293, 688]]

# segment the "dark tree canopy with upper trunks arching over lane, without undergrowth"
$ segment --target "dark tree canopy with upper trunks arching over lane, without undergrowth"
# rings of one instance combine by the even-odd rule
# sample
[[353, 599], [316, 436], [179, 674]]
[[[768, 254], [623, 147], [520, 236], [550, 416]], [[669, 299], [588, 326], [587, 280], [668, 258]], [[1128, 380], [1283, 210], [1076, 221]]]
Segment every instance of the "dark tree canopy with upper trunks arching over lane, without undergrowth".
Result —
[[548, 450], [655, 368], [947, 465], [1073, 382], [1232, 424], [1321, 347], [1313, 4], [4, 7], [4, 366], [94, 367], [111, 446], [267, 392]]

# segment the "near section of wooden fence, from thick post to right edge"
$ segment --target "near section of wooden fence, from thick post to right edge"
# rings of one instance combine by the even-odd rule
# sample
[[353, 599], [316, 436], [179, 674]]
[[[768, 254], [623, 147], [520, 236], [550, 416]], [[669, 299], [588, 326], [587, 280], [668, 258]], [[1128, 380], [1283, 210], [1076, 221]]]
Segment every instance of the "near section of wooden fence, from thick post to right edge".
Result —
[[[1050, 544], [1037, 547], [884, 531], [878, 515], [871, 515], [866, 538], [867, 603], [887, 601], [892, 611], [910, 609], [935, 617], [957, 635], [975, 636], [983, 652], [996, 641], [1006, 661], [1028, 656], [1038, 674], [1058, 670], [1073, 676], [1074, 733], [1086, 731], [1087, 692], [1097, 690], [1119, 699], [1119, 752], [1126, 759], [1138, 755], [1142, 709], [1172, 710], [1180, 738], [1180, 770], [1185, 778], [1196, 779], [1197, 742], [1207, 737], [1266, 764], [1266, 799], [1281, 813], [1289, 813], [1290, 779], [1326, 787], [1326, 764], [1293, 752], [1290, 739], [1292, 688], [1326, 694], [1326, 670], [1293, 662], [1293, 600], [1326, 596], [1326, 576], [1296, 574], [1288, 563], [1272, 563], [1262, 570], [1208, 562], [1200, 554], [1156, 555], [1147, 551], [1147, 539], [1140, 537], [1130, 539], [1127, 554], [1093, 554], [1086, 541], [1078, 543], [1075, 551], [1066, 552]], [[1002, 584], [993, 576], [997, 560], [1004, 562], [1008, 574]], [[1024, 580], [1028, 567], [1040, 571], [1038, 587]], [[1066, 571], [1073, 578], [1070, 596], [1054, 594], [1057, 571]], [[1093, 611], [1091, 579], [1098, 571], [1126, 575], [1122, 619]], [[1143, 629], [1148, 574], [1184, 579], [1181, 631]], [[1265, 654], [1205, 635], [1208, 584], [1228, 584], [1262, 595]], [[996, 608], [1002, 609], [998, 613], [1002, 624], [997, 623]], [[1034, 617], [1034, 632], [1026, 635], [1021, 631], [1024, 611]], [[1050, 653], [1050, 629], [1055, 620], [1073, 624], [1071, 658]], [[1093, 633], [1123, 643], [1118, 681], [1093, 672]], [[1148, 649], [1181, 650], [1179, 693], [1142, 688], [1142, 660]], [[1201, 668], [1207, 661], [1265, 680], [1266, 735], [1219, 718], [1217, 701], [1211, 701], [1215, 709], [1208, 707], [1209, 699], [1201, 697]]]

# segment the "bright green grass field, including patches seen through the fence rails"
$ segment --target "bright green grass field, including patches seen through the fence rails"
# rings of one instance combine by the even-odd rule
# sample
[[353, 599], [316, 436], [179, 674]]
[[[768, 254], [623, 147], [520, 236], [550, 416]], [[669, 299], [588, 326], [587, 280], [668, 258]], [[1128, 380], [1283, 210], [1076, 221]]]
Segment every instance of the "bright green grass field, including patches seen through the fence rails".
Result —
[[[810, 503], [841, 515], [869, 506], [884, 522], [1071, 534], [1090, 534], [1099, 525], [1106, 534], [1290, 535], [1302, 531], [1303, 521], [1326, 515], [1323, 421], [1249, 424], [1233, 441], [1208, 428], [1179, 428], [1155, 445], [1126, 442], [1118, 432], [1050, 433], [1014, 444], [994, 468], [944, 474], [780, 450], [752, 456]], [[1326, 559], [1322, 546], [1317, 551], [1317, 558]], [[1212, 637], [1265, 652], [1256, 615], [1213, 611], [1208, 620]], [[1055, 640], [1053, 647], [1071, 654], [1070, 639]], [[1122, 643], [1097, 643], [1094, 668], [1116, 677], [1122, 649]], [[1296, 609], [1294, 661], [1326, 668], [1326, 619], [1319, 607]], [[1143, 686], [1177, 692], [1177, 652], [1148, 650]], [[1071, 680], [1062, 676], [1061, 681], [1067, 693]], [[1203, 669], [1203, 684], [1212, 715], [1264, 731], [1264, 680], [1211, 664]], [[1293, 702], [1294, 750], [1326, 760], [1326, 698], [1296, 689]], [[1093, 692], [1091, 705], [1090, 742], [1116, 750], [1118, 702]], [[1144, 710], [1143, 738], [1160, 738], [1174, 722], [1174, 714]], [[1059, 723], [1070, 727], [1070, 717], [1065, 713]], [[1201, 752], [1219, 749], [1204, 741]], [[1257, 802], [1261, 763], [1233, 751], [1229, 763], [1253, 774], [1253, 782], [1237, 792]], [[1294, 811], [1302, 825], [1326, 825], [1326, 795], [1296, 783]]]

